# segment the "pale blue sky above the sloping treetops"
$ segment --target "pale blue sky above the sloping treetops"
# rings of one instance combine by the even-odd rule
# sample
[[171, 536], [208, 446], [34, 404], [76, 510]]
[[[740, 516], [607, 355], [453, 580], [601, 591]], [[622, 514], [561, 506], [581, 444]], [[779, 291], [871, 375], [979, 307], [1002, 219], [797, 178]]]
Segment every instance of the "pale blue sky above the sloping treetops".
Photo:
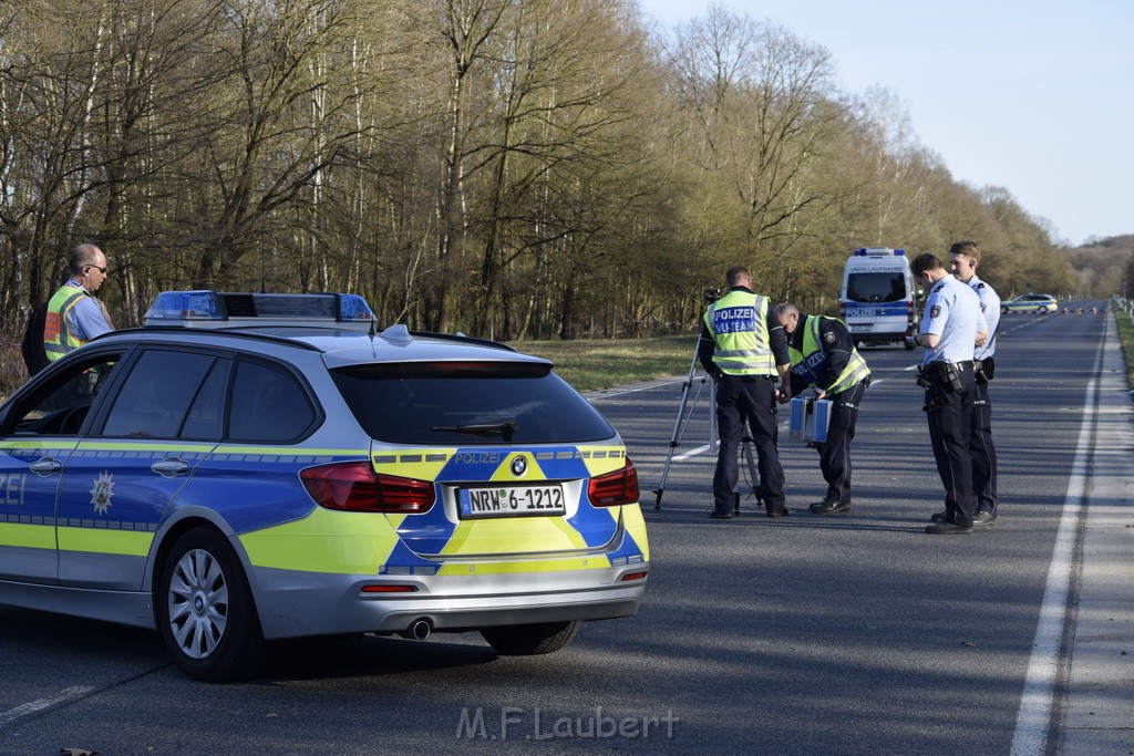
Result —
[[721, 5], [882, 86], [954, 178], [1006, 187], [1058, 240], [1134, 233], [1134, 0], [638, 0], [671, 26]]

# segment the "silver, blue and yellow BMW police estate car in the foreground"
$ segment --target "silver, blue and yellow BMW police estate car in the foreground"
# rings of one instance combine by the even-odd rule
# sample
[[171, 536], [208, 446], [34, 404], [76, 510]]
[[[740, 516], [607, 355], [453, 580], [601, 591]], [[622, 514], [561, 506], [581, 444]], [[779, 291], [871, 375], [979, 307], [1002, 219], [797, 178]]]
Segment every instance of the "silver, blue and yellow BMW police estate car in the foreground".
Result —
[[650, 550], [551, 367], [353, 295], [164, 292], [0, 406], [0, 603], [156, 628], [200, 680], [301, 636], [557, 651], [635, 614]]

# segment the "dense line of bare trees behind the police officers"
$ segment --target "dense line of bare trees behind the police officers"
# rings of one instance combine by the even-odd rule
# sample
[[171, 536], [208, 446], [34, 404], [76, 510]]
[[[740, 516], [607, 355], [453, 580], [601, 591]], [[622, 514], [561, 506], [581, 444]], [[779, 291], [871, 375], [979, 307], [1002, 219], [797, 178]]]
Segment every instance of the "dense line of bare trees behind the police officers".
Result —
[[358, 291], [497, 339], [685, 329], [729, 264], [830, 309], [855, 247], [985, 249], [1076, 288], [1049, 226], [953, 179], [887, 92], [720, 8], [634, 0], [8, 0], [0, 313], [107, 252], [120, 324], [176, 288]]

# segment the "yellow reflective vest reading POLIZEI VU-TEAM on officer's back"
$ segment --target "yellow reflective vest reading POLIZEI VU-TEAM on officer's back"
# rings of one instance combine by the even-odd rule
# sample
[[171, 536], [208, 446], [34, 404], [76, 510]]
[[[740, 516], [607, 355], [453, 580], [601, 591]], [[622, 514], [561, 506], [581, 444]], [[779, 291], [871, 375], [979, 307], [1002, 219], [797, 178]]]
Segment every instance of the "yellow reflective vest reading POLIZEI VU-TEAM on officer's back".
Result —
[[768, 339], [768, 297], [734, 290], [705, 311], [717, 345], [712, 360], [729, 375], [776, 375]]

